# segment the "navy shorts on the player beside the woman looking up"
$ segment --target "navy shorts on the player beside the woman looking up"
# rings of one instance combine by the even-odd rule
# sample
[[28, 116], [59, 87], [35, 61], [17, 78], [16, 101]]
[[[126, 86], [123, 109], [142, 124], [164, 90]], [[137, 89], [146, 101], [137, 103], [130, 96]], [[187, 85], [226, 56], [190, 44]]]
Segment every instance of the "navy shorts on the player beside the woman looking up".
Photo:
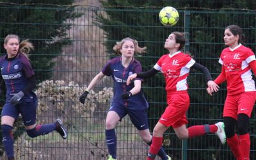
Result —
[[128, 114], [131, 118], [132, 124], [139, 131], [148, 129], [147, 109], [134, 110], [118, 104], [112, 104], [112, 106], [109, 108], [109, 111], [115, 111], [120, 117], [120, 121], [122, 120], [122, 118], [124, 118], [124, 116]]

